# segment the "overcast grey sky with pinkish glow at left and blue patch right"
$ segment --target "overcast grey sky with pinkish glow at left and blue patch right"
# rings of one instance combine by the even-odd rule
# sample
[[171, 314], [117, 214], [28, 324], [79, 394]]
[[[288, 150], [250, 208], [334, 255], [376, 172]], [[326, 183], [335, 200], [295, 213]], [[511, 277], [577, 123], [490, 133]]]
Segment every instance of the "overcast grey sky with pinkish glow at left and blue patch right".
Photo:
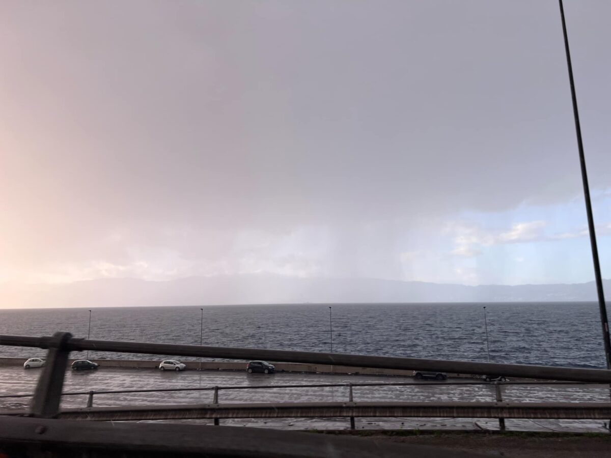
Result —
[[[611, 277], [611, 2], [565, 2]], [[593, 280], [555, 0], [0, 3], [0, 282]]]

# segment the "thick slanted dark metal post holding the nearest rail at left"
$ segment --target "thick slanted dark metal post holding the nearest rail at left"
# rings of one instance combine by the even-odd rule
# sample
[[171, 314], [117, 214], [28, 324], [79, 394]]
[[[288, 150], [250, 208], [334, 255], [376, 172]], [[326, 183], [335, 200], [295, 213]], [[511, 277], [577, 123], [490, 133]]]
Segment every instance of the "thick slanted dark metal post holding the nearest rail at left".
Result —
[[68, 366], [67, 343], [72, 338], [69, 332], [56, 332], [49, 341], [49, 351], [46, 354], [46, 364], [38, 379], [34, 398], [32, 398], [32, 416], [53, 418], [59, 413], [62, 399], [64, 376]]

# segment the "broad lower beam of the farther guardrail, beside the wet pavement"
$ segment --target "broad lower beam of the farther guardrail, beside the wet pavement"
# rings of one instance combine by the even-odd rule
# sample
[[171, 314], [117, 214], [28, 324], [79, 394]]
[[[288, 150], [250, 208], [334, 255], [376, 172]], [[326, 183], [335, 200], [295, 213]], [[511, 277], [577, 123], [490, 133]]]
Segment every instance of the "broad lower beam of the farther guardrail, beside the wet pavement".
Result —
[[[24, 412], [4, 412], [24, 415]], [[532, 418], [606, 420], [608, 402], [279, 402], [65, 409], [62, 420], [136, 421], [214, 418]]]

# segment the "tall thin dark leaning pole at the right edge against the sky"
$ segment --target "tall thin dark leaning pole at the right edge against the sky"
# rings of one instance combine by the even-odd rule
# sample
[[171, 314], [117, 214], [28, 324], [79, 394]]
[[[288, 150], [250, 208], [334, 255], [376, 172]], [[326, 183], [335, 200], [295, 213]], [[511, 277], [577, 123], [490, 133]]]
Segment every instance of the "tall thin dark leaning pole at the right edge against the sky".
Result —
[[577, 110], [577, 95], [575, 92], [575, 81], [573, 79], [573, 65], [571, 65], [571, 52], [569, 51], [569, 38], [566, 33], [565, 9], [562, 0], [560, 5], [560, 18], [562, 18], [562, 33], [565, 37], [566, 66], [569, 71], [569, 82], [571, 84], [571, 97], [573, 98], [573, 115], [575, 117], [575, 131], [577, 134], [577, 148], [579, 148], [579, 162], [581, 164], [581, 178], [584, 183], [585, 211], [588, 214], [588, 229], [590, 230], [590, 245], [592, 247], [592, 261], [594, 263], [594, 275], [596, 278], [596, 292], [598, 293], [598, 308], [601, 313], [602, 341], [605, 348], [605, 359], [607, 369], [611, 369], [611, 340], [609, 339], [609, 319], [607, 318], [607, 307], [605, 304], [604, 291], [602, 291], [601, 264], [598, 261], [598, 247], [596, 245], [596, 231], [594, 229], [594, 217], [592, 215], [592, 204], [590, 202], [590, 186], [588, 185], [588, 173], [585, 168], [584, 143], [581, 137], [581, 126], [579, 123], [579, 111]]

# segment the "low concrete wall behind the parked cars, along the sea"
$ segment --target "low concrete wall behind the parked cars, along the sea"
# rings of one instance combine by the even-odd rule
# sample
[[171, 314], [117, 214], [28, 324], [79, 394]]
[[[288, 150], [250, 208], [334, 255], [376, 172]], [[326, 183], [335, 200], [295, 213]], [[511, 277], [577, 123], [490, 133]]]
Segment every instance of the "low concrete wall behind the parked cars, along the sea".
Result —
[[[82, 358], [79, 358], [82, 359]], [[70, 359], [70, 363], [75, 359]], [[92, 359], [102, 367], [107, 368], [126, 368], [126, 369], [155, 369], [159, 367], [162, 360], [104, 360]], [[26, 358], [0, 358], [1, 366], [23, 366]], [[198, 361], [183, 361], [188, 369], [199, 369]], [[398, 369], [373, 369], [358, 368], [349, 366], [331, 365], [312, 365], [302, 363], [274, 363], [276, 371], [282, 372], [301, 372], [301, 373], [321, 373], [321, 374], [363, 374], [363, 375], [384, 375], [384, 376], [412, 376], [414, 371]], [[207, 371], [245, 371], [245, 362], [225, 362], [225, 361], [202, 361], [202, 370]], [[448, 374], [450, 377], [471, 377], [466, 374]]]

